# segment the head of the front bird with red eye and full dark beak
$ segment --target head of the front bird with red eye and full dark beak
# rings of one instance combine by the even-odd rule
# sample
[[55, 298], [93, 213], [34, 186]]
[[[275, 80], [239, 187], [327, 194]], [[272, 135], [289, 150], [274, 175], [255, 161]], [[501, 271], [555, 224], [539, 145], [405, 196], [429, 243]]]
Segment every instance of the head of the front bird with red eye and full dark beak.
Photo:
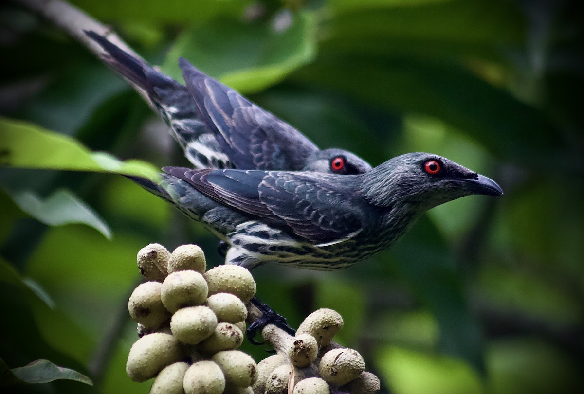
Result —
[[470, 194], [503, 194], [488, 177], [442, 156], [420, 152], [390, 159], [361, 179], [361, 189], [372, 204], [407, 204], [419, 212]]

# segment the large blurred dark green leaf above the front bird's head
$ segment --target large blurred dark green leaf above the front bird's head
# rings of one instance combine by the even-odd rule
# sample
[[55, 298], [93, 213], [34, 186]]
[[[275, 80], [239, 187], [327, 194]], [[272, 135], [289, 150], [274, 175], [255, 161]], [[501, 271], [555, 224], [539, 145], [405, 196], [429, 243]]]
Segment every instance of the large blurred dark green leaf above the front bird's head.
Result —
[[318, 60], [294, 78], [371, 107], [438, 118], [508, 161], [561, 155], [544, 111], [505, 90], [526, 40], [517, 6], [430, 3], [336, 2]]

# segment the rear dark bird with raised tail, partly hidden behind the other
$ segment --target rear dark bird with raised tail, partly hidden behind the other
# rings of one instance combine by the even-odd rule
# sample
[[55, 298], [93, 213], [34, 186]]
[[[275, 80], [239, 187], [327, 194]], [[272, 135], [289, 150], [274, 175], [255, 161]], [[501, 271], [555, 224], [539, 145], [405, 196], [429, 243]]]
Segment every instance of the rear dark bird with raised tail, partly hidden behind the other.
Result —
[[371, 166], [343, 149], [320, 150], [296, 128], [194, 68], [180, 67], [186, 86], [121, 50], [98, 33], [85, 34], [103, 60], [147, 92], [195, 168], [357, 174]]

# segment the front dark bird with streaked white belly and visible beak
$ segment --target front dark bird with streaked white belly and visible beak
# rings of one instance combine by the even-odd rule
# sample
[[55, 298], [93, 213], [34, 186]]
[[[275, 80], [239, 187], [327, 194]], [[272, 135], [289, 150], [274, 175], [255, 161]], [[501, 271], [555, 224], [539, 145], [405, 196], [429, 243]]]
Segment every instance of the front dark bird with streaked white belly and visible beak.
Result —
[[230, 246], [226, 263], [314, 270], [352, 266], [390, 247], [423, 212], [470, 194], [501, 196], [488, 177], [426, 153], [359, 175], [164, 168], [142, 185]]

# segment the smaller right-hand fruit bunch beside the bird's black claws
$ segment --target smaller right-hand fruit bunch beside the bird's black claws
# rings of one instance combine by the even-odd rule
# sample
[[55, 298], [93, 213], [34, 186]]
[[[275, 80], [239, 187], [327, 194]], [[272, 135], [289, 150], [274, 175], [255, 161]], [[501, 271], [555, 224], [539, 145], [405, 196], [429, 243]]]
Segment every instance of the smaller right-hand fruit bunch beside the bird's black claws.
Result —
[[[254, 393], [369, 394], [380, 389], [377, 376], [365, 372], [363, 357], [331, 343], [343, 326], [332, 309], [318, 309], [304, 319], [296, 336], [278, 354], [258, 364]], [[286, 354], [287, 353], [287, 354]]]

